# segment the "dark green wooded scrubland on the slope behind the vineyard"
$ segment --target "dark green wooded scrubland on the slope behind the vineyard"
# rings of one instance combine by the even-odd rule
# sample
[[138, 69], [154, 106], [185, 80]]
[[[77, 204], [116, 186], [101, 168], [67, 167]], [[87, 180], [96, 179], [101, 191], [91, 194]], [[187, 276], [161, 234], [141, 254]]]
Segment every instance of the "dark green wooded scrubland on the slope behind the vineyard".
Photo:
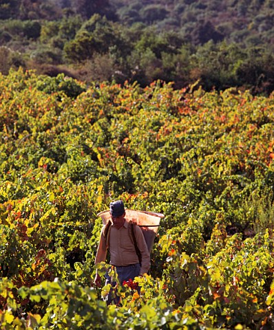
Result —
[[269, 95], [273, 0], [0, 1], [0, 72]]

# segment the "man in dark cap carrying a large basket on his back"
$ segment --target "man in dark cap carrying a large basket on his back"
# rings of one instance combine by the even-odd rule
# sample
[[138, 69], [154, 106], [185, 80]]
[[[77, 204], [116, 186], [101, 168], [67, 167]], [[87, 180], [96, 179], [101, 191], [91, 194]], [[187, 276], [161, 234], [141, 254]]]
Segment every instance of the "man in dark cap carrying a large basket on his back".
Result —
[[[136, 246], [134, 245], [134, 238], [129, 228], [130, 224], [126, 219], [123, 201], [114, 201], [109, 204], [109, 208], [111, 223], [107, 223], [101, 231], [95, 264], [105, 261], [107, 250], [109, 250], [109, 263], [116, 267], [118, 280], [120, 284], [123, 284], [124, 281], [129, 281], [129, 278], [134, 280], [136, 276], [143, 275], [149, 271], [150, 254], [142, 230], [138, 225], [134, 225], [134, 236], [142, 261], [140, 264]], [[106, 275], [105, 277], [105, 284], [110, 283], [109, 276]], [[101, 286], [101, 276], [97, 272], [94, 283], [97, 286]], [[107, 303], [110, 303], [109, 298]]]

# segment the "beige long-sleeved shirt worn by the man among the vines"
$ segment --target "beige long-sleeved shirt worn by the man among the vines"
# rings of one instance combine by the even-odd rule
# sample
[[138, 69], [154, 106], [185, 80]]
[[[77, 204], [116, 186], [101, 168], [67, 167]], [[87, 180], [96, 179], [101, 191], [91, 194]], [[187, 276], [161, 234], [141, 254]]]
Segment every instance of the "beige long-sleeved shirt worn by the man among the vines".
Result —
[[[111, 265], [115, 266], [127, 266], [134, 263], [138, 263], [139, 259], [136, 254], [134, 243], [129, 236], [128, 230], [129, 223], [127, 220], [124, 225], [117, 229], [114, 225], [111, 225], [109, 230], [109, 252]], [[147, 243], [145, 243], [145, 238], [142, 230], [136, 225], [136, 242], [140, 253], [142, 255], [142, 265], [140, 269], [140, 275], [143, 275], [149, 271], [150, 268], [150, 254], [147, 249]], [[103, 229], [101, 231], [100, 242], [98, 245], [98, 250], [95, 258], [95, 263], [100, 263], [105, 261], [107, 256], [107, 246], [105, 244], [105, 238], [103, 237]]]

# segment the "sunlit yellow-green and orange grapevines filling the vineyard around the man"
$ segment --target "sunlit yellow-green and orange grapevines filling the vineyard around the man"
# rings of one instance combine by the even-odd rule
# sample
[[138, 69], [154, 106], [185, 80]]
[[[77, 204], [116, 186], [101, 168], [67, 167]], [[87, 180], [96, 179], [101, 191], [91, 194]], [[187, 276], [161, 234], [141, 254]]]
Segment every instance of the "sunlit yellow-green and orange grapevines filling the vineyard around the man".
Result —
[[[273, 94], [1, 76], [1, 329], [273, 329], [273, 127]], [[118, 198], [165, 219], [140, 296], [107, 307]]]

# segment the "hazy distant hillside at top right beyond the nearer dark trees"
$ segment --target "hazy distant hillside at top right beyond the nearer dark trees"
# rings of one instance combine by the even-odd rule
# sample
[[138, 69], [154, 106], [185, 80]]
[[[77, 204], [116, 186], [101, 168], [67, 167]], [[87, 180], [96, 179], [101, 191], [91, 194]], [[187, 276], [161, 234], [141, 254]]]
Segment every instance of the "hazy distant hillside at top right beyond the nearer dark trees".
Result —
[[155, 24], [159, 29], [180, 31], [186, 40], [191, 39], [196, 44], [226, 39], [229, 43], [268, 43], [273, 47], [273, 1], [113, 2], [120, 21], [129, 25]]

